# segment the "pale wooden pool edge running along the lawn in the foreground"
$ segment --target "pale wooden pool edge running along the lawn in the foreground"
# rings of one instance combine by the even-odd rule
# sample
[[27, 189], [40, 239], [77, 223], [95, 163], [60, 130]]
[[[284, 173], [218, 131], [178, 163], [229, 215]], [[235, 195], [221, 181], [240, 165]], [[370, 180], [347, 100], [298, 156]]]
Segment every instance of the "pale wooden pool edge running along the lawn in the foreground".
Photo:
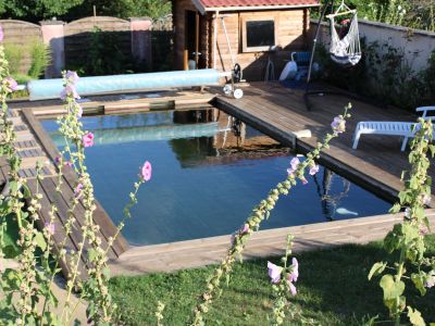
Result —
[[[435, 226], [435, 210], [427, 210]], [[272, 218], [272, 217], [271, 217]], [[252, 235], [245, 259], [282, 255], [286, 237], [295, 235], [294, 252], [330, 248], [345, 243], [366, 243], [383, 238], [402, 214], [324, 222], [318, 224], [260, 230]], [[229, 235], [163, 244], [132, 247], [111, 263], [113, 275], [139, 275], [154, 272], [173, 272], [219, 263], [229, 248]]]

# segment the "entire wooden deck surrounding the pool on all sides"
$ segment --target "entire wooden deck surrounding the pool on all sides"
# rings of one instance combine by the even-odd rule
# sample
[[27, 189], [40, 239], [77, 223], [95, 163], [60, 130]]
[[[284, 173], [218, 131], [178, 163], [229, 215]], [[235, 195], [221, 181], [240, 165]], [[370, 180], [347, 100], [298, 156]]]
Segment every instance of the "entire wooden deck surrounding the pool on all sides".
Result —
[[[123, 100], [120, 100], [119, 96], [97, 97], [83, 103], [83, 106], [86, 113], [91, 114], [122, 114], [164, 109], [185, 110], [189, 106], [212, 103], [283, 143], [295, 146], [298, 152], [306, 153], [315, 146], [325, 131], [331, 130], [330, 125], [333, 117], [340, 114], [343, 108], [351, 101], [353, 104], [352, 118], [347, 124], [347, 133], [333, 141], [331, 149], [322, 155], [321, 163], [385, 199], [393, 200], [396, 198], [397, 192], [402, 187], [400, 173], [408, 167], [408, 152], [400, 152], [399, 138], [363, 135], [358, 150], [352, 150], [352, 133], [359, 121], [414, 121], [417, 116], [396, 109], [377, 108], [337, 96], [312, 97], [312, 109], [307, 111], [302, 90], [283, 88], [273, 83], [252, 83], [245, 86], [244, 91], [245, 97], [241, 100], [224, 97], [220, 89], [212, 88], [207, 92], [172, 91], [158, 97], [130, 97]], [[14, 113], [11, 116], [14, 124], [16, 123], [15, 129], [17, 133], [27, 133], [26, 130], [28, 130], [27, 134], [32, 136], [26, 134], [27, 138], [23, 139], [28, 143], [22, 143], [22, 146], [33, 147], [25, 149], [35, 149], [35, 151], [32, 151], [34, 155], [50, 162], [47, 165], [48, 177], [42, 183], [46, 199], [40, 213], [41, 225], [48, 218], [48, 210], [51, 203], [55, 202], [60, 205], [57, 215], [59, 228], [57, 229], [62, 229], [69, 210], [67, 199], [69, 196], [72, 196], [76, 175], [73, 171], [64, 175], [62, 187], [65, 195], [63, 198], [59, 198], [54, 191], [57, 180], [53, 164], [58, 151], [37, 117], [62, 114], [63, 108], [59, 101], [14, 103], [12, 106], [18, 109], [13, 110]], [[18, 127], [21, 125], [24, 125], [24, 127]], [[21, 128], [24, 129], [20, 130]], [[312, 137], [297, 138], [298, 131], [303, 129], [310, 129]], [[32, 168], [32, 162], [26, 161], [25, 166]], [[5, 166], [4, 162], [2, 166]], [[4, 179], [7, 170], [1, 171], [0, 179]], [[23, 176], [29, 178], [30, 188], [35, 190], [36, 181], [32, 173], [27, 172], [28, 175], [26, 172], [23, 173]], [[431, 175], [435, 176], [433, 168]], [[76, 217], [80, 216], [80, 210], [83, 208], [78, 209]], [[435, 211], [428, 210], [427, 213], [433, 223]], [[113, 234], [114, 225], [99, 204], [95, 220], [102, 227], [101, 237], [104, 242]], [[247, 256], [282, 254], [288, 231], [296, 236], [296, 251], [348, 242], [365, 243], [385, 236], [394, 223], [399, 220], [399, 215], [387, 214], [261, 230], [252, 237], [248, 246]], [[60, 234], [59, 239], [61, 238], [62, 235]], [[73, 233], [70, 240], [69, 248], [76, 248], [80, 241], [79, 233]], [[110, 252], [110, 266], [115, 275], [170, 272], [216, 263], [225, 254], [227, 247], [228, 236], [145, 247], [129, 247], [126, 240], [121, 237]], [[69, 267], [63, 267], [64, 272], [67, 272]]]

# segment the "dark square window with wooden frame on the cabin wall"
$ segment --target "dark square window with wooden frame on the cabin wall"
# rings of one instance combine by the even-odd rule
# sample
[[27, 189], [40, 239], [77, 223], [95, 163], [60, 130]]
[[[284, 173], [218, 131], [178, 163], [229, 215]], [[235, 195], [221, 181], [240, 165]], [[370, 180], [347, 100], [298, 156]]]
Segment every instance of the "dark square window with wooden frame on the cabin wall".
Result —
[[270, 51], [276, 46], [276, 21], [274, 17], [243, 20], [243, 51]]

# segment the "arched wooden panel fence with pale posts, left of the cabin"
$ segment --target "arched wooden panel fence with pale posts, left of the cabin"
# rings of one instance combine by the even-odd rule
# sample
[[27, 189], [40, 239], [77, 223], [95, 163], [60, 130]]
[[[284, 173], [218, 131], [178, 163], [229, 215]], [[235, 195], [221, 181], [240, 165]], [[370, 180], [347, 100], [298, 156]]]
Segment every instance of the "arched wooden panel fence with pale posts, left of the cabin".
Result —
[[[98, 48], [107, 46], [104, 42], [110, 42], [122, 54], [125, 70], [148, 72], [172, 68], [172, 15], [157, 21], [90, 16], [70, 23], [46, 21], [40, 25], [0, 20], [0, 26], [7, 45], [23, 47], [41, 40], [50, 46], [52, 63], [46, 71], [46, 78], [59, 77], [65, 68], [85, 66], [90, 53], [98, 50], [97, 53], [100, 53]], [[30, 65], [28, 51], [23, 52], [21, 73], [27, 72]]]

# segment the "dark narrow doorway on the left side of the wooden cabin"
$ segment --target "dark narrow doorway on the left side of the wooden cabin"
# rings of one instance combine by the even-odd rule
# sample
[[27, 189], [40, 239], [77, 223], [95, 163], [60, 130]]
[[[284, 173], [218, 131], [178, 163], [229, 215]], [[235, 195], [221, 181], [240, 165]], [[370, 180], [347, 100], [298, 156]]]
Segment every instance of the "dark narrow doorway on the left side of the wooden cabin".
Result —
[[199, 52], [199, 13], [186, 10], [184, 70], [197, 70]]

